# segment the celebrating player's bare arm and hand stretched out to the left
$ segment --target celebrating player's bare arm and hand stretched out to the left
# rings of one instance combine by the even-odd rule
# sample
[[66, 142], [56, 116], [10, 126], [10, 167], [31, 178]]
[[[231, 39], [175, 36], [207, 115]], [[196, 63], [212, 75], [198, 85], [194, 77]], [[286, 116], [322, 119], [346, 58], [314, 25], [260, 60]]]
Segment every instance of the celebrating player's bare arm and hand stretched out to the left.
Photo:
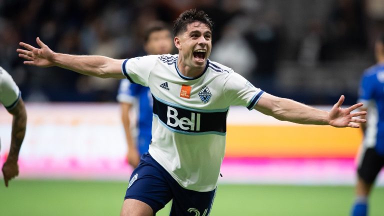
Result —
[[40, 48], [33, 47], [27, 43], [20, 42], [19, 45], [24, 49], [17, 49], [18, 56], [24, 58], [24, 64], [49, 67], [59, 66], [75, 72], [97, 76], [101, 78], [125, 78], [121, 73], [123, 60], [113, 59], [99, 55], [70, 55], [56, 53], [45, 45], [38, 37], [37, 44]]

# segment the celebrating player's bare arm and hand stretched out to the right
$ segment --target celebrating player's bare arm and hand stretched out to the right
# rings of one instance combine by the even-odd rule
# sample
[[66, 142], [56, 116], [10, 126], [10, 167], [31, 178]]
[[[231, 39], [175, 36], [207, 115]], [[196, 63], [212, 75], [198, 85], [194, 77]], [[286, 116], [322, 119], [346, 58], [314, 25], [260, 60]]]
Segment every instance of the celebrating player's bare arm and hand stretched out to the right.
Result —
[[316, 109], [291, 99], [276, 97], [264, 93], [254, 106], [254, 109], [271, 115], [279, 120], [291, 121], [300, 124], [329, 124], [334, 127], [359, 127], [358, 122], [365, 122], [365, 119], [354, 118], [366, 114], [365, 111], [351, 113], [362, 103], [354, 104], [348, 108], [341, 108], [344, 95], [328, 111]]

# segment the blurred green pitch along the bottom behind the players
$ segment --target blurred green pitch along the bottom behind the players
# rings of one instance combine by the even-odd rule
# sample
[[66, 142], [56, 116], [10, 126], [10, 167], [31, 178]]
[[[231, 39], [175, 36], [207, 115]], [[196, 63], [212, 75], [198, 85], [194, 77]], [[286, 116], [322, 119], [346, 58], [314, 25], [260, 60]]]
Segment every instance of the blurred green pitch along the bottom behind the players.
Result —
[[[0, 181], [0, 215], [119, 215], [127, 182], [12, 180]], [[221, 184], [210, 215], [348, 215], [351, 186], [279, 186]], [[375, 187], [370, 215], [383, 215], [384, 187]], [[157, 216], [169, 215], [169, 206]], [[192, 214], [191, 214], [192, 215]]]

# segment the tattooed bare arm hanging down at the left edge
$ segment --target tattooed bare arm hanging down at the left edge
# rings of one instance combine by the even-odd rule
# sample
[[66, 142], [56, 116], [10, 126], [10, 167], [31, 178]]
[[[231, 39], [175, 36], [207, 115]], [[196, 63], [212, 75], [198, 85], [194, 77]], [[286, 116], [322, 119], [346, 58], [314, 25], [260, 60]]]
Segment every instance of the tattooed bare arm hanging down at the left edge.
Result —
[[8, 186], [8, 181], [10, 179], [18, 175], [18, 153], [20, 151], [22, 140], [24, 139], [26, 127], [26, 111], [21, 97], [17, 102], [17, 105], [8, 111], [13, 115], [13, 120], [9, 154], [2, 166], [5, 186]]

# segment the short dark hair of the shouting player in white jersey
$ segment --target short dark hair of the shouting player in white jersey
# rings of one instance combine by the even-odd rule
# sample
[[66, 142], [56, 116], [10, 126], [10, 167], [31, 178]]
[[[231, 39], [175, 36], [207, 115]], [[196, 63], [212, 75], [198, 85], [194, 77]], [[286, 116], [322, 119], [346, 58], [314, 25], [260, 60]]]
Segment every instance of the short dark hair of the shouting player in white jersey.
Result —
[[177, 36], [178, 33], [182, 31], [186, 31], [186, 27], [188, 24], [200, 21], [206, 26], [208, 26], [209, 30], [212, 31], [213, 22], [202, 10], [189, 9], [182, 12], [176, 20], [174, 20], [173, 24], [173, 36]]

